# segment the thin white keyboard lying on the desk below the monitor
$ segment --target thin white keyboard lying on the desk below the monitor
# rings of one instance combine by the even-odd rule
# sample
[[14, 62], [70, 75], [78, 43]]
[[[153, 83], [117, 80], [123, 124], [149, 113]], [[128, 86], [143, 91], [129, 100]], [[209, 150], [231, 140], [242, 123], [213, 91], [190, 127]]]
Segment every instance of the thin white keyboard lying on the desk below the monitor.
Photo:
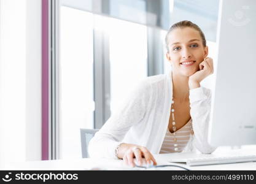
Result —
[[231, 164], [231, 163], [245, 163], [256, 161], [256, 155], [242, 155], [242, 156], [223, 156], [212, 158], [188, 158], [186, 163], [188, 166], [204, 166], [211, 164]]

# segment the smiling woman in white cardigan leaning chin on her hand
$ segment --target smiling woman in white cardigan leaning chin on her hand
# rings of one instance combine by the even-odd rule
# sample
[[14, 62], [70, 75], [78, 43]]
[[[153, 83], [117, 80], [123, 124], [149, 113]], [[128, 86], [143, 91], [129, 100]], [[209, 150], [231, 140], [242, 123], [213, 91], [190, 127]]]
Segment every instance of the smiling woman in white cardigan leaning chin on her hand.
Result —
[[119, 158], [134, 166], [156, 161], [152, 154], [199, 150], [208, 144], [211, 91], [200, 82], [213, 73], [201, 29], [180, 21], [166, 34], [168, 75], [147, 77], [91, 139], [91, 157]]

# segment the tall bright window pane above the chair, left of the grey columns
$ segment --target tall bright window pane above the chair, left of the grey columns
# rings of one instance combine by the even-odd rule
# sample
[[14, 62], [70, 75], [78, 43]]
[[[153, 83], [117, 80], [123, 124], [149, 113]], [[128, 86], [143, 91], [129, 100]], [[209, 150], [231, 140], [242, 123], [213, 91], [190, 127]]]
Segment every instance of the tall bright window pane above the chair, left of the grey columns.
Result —
[[61, 158], [80, 157], [80, 128], [93, 128], [93, 15], [61, 7]]

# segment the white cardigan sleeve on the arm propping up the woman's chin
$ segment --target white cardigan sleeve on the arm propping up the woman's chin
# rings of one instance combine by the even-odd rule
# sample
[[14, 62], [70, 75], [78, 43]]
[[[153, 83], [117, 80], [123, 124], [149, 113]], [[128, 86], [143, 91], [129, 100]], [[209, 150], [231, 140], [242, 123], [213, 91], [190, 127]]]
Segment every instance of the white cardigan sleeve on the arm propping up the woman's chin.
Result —
[[208, 127], [211, 113], [211, 90], [195, 88], [190, 90], [190, 115], [195, 139], [193, 145], [201, 153], [212, 153], [216, 148], [208, 144]]

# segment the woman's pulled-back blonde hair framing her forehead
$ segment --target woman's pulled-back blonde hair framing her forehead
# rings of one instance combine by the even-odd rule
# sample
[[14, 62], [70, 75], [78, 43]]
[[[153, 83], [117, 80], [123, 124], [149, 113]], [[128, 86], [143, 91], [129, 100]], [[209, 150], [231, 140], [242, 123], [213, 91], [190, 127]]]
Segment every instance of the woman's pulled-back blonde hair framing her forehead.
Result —
[[183, 21], [179, 21], [177, 23], [175, 23], [174, 25], [171, 26], [171, 28], [169, 28], [166, 36], [165, 36], [165, 44], [166, 44], [166, 49], [169, 52], [169, 48], [168, 48], [168, 44], [169, 44], [169, 33], [171, 33], [171, 31], [173, 31], [174, 29], [177, 28], [193, 28], [196, 31], [199, 32], [202, 40], [203, 40], [203, 46], [206, 47], [206, 39], [204, 36], [203, 31], [200, 29], [200, 27], [198, 25], [196, 25], [195, 23], [192, 23], [192, 21], [188, 21], [188, 20], [183, 20]]

